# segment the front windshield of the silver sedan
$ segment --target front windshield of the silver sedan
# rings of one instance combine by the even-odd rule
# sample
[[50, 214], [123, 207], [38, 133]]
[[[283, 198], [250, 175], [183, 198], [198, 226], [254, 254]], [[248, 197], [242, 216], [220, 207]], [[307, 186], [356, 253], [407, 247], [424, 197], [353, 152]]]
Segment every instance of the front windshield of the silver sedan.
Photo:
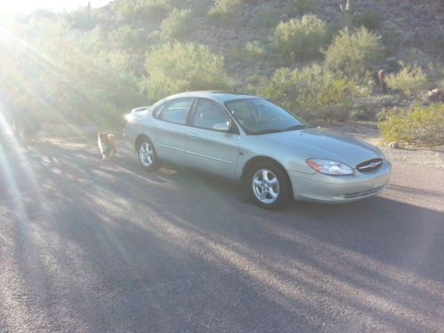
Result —
[[266, 99], [228, 100], [225, 106], [247, 134], [295, 131], [307, 127], [306, 123]]

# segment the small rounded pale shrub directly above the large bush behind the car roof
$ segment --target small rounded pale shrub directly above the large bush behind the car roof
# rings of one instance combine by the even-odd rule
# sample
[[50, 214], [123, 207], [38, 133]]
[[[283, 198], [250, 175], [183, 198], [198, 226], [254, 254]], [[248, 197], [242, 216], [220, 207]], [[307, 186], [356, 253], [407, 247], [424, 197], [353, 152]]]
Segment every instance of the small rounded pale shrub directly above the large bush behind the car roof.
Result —
[[162, 21], [161, 29], [163, 36], [178, 38], [185, 36], [194, 27], [191, 10], [174, 8], [168, 17]]

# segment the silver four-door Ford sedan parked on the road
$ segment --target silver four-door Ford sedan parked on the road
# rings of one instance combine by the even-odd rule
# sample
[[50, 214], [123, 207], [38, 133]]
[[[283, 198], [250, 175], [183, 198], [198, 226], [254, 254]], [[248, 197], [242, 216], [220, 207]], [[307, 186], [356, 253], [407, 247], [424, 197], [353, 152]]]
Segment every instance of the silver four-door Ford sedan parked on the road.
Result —
[[185, 92], [126, 119], [123, 137], [144, 170], [167, 163], [241, 182], [268, 209], [363, 199], [384, 189], [392, 169], [377, 147], [312, 128], [256, 96]]

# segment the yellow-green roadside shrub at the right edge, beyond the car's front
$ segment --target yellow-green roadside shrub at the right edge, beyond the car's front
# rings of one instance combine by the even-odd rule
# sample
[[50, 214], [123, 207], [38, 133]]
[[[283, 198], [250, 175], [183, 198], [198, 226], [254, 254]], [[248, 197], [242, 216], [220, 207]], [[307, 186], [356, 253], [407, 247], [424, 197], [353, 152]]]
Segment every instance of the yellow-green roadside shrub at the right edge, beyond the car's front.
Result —
[[383, 110], [377, 123], [385, 142], [418, 145], [444, 144], [444, 103], [424, 107], [413, 104], [408, 109]]

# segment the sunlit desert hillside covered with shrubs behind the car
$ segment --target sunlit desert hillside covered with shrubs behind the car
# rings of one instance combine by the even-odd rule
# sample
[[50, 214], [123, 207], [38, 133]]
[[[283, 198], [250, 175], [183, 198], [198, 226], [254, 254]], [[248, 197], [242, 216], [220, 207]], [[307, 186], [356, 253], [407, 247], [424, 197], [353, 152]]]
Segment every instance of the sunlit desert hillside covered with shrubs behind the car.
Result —
[[115, 0], [0, 22], [5, 107], [47, 122], [122, 123], [201, 89], [260, 94], [315, 122], [442, 113], [441, 0]]

